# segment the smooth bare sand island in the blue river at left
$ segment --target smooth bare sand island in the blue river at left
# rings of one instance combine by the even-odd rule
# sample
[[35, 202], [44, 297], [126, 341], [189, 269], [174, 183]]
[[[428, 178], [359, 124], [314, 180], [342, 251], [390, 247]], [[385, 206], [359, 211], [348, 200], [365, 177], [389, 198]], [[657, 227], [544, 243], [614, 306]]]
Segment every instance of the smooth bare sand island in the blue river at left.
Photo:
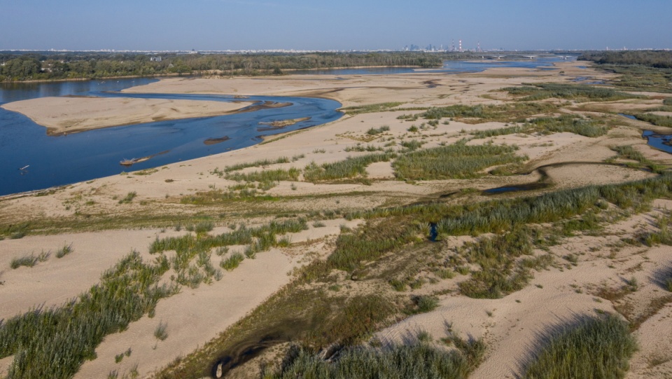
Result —
[[2, 107], [23, 113], [47, 128], [49, 135], [84, 132], [111, 126], [181, 118], [221, 116], [253, 104], [244, 100], [214, 102], [118, 97], [41, 97]]

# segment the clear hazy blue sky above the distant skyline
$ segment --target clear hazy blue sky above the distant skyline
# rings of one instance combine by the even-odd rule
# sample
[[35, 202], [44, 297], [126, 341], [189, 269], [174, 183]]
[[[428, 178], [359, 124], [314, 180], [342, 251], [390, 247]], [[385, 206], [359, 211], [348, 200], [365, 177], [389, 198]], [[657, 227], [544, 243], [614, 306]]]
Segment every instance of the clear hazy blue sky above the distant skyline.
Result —
[[672, 48], [672, 0], [0, 0], [0, 50]]

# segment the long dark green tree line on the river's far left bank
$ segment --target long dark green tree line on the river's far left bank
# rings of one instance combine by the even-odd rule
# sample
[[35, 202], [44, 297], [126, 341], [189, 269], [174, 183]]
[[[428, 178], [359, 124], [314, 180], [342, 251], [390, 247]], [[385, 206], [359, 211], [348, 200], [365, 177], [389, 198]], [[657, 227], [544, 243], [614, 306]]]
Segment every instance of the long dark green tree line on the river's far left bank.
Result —
[[[160, 59], [157, 59], [159, 58]], [[268, 75], [334, 67], [440, 67], [469, 53], [1, 53], [0, 81], [95, 79], [165, 74]]]

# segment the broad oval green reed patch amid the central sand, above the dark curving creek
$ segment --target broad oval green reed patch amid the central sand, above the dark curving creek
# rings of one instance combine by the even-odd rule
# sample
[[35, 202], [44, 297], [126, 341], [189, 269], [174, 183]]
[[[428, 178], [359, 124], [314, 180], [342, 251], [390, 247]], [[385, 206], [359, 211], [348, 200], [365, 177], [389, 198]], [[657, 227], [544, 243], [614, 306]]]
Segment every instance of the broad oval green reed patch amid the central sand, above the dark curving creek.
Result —
[[487, 167], [521, 163], [517, 146], [467, 145], [464, 140], [448, 146], [414, 151], [394, 161], [395, 177], [402, 180], [468, 179], [481, 177]]

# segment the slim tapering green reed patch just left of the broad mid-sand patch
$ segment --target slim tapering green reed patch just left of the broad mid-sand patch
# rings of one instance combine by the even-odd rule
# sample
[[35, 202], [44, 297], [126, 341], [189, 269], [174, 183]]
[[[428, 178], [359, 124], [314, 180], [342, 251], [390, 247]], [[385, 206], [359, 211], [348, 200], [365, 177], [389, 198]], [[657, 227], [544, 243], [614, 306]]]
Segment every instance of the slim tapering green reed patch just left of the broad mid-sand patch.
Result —
[[366, 177], [366, 167], [372, 163], [387, 162], [396, 157], [395, 153], [374, 153], [365, 156], [348, 157], [334, 163], [307, 165], [303, 177], [306, 181], [317, 182], [327, 180]]

